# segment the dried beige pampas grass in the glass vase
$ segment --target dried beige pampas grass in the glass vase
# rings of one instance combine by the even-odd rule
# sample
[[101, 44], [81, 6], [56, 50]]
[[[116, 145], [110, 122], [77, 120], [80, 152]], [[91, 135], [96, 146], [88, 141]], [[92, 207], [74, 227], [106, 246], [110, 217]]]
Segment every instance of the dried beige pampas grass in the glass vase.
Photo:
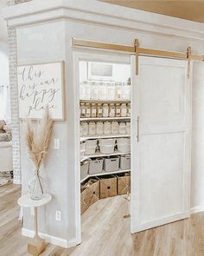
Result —
[[29, 157], [33, 161], [36, 173], [39, 174], [42, 161], [48, 154], [49, 142], [52, 136], [53, 120], [50, 118], [48, 107], [44, 117], [36, 124], [28, 120], [27, 146]]

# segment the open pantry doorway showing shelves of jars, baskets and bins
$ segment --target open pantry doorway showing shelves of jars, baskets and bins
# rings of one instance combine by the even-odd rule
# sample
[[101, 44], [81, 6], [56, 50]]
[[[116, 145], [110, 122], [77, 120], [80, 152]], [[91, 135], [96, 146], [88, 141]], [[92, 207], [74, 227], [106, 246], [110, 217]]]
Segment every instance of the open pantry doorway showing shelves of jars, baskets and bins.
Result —
[[74, 63], [81, 215], [98, 200], [131, 193], [131, 58], [76, 52]]

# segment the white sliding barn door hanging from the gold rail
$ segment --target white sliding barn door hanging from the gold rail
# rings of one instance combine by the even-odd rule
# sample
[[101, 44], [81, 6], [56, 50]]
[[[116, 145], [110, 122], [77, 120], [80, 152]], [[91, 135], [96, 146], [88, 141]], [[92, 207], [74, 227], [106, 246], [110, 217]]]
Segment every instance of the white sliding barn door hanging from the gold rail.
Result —
[[141, 56], [134, 75], [135, 62], [131, 56], [131, 233], [187, 218], [190, 200], [188, 64]]

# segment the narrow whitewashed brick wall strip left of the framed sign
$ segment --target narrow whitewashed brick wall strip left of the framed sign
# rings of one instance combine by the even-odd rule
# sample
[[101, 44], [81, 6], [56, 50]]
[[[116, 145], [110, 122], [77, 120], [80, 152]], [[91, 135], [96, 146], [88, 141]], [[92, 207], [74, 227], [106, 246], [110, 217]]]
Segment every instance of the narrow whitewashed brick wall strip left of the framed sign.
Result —
[[[7, 0], [7, 5], [29, 2], [31, 0]], [[14, 182], [21, 182], [21, 151], [20, 151], [20, 125], [18, 118], [18, 95], [17, 95], [17, 47], [16, 29], [8, 28], [8, 45], [10, 59], [10, 109], [13, 134], [13, 167]]]

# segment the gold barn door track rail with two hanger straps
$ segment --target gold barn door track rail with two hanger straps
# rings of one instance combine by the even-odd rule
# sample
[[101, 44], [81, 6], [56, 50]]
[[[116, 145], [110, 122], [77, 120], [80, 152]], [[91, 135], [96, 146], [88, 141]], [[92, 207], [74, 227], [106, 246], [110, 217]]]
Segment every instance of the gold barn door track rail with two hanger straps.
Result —
[[188, 61], [188, 77], [190, 73], [190, 62], [197, 61], [203, 62], [203, 55], [194, 55], [192, 54], [192, 49], [188, 46], [186, 52], [176, 52], [176, 51], [168, 51], [163, 49], [149, 49], [149, 48], [141, 48], [139, 46], [138, 39], [135, 39], [133, 46], [114, 44], [114, 43], [100, 43], [94, 41], [86, 41], [81, 39], [72, 39], [73, 47], [85, 47], [92, 49], [107, 49], [107, 50], [115, 50], [121, 52], [129, 52], [135, 54], [136, 56], [136, 75], [138, 75], [138, 56], [155, 56], [155, 57], [163, 57], [177, 60], [187, 60]]

